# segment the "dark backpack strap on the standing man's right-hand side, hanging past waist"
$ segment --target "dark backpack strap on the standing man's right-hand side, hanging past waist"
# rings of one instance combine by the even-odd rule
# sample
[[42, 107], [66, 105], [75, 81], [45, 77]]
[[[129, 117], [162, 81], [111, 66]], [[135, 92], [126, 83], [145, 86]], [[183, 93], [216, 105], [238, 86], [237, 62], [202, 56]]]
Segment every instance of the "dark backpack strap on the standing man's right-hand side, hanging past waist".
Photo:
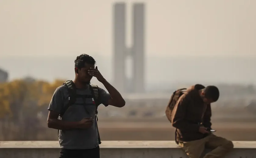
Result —
[[96, 128], [97, 128], [97, 132], [98, 132], [98, 143], [101, 144], [101, 137], [100, 137], [100, 133], [99, 133], [99, 129], [98, 129], [98, 106], [99, 106], [99, 101], [98, 101], [98, 98], [99, 98], [99, 91], [98, 91], [98, 86], [95, 85], [95, 84], [90, 84], [90, 89], [91, 89], [91, 92], [93, 94], [93, 99], [95, 101], [95, 105], [96, 105], [96, 115], [95, 115], [95, 119], [96, 119]]

